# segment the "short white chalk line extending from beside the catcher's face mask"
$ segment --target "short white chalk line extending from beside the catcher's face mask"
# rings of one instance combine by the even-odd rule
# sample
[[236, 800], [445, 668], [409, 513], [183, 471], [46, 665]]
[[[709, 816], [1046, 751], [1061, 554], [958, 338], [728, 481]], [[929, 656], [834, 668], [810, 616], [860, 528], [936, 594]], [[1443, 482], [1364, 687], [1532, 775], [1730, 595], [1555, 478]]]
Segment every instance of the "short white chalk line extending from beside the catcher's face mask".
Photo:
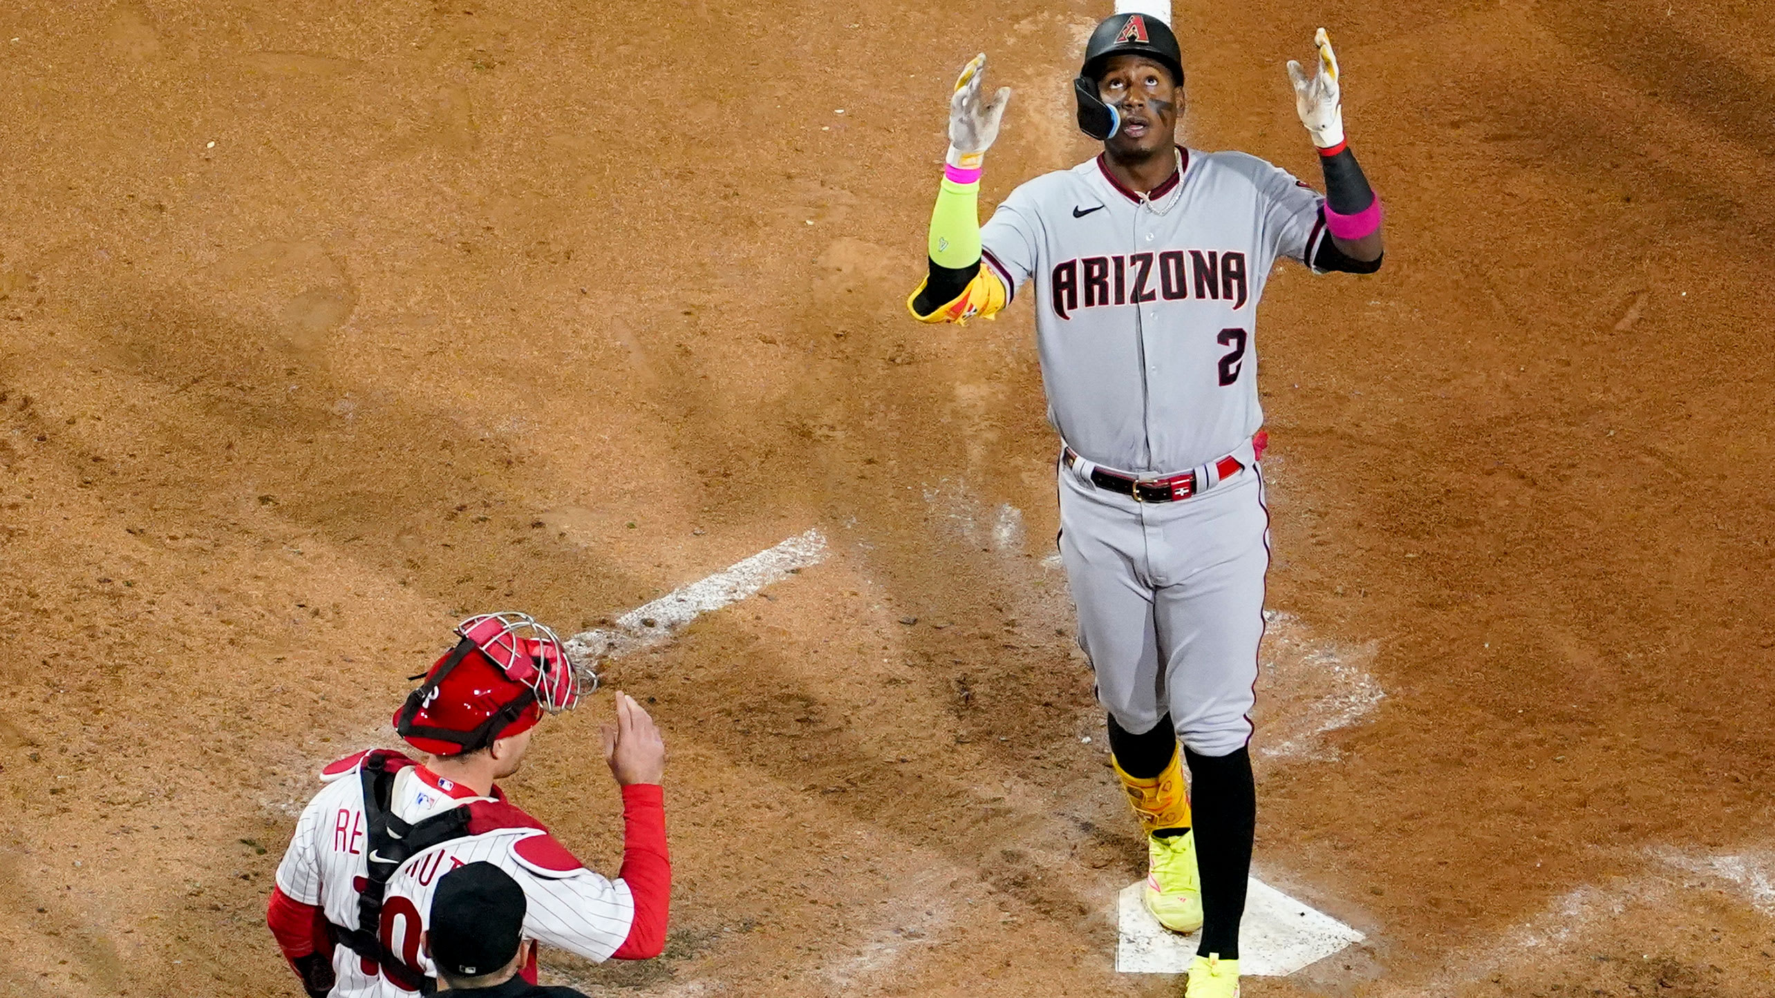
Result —
[[673, 633], [703, 613], [738, 603], [774, 581], [824, 562], [825, 555], [825, 535], [818, 528], [797, 534], [705, 580], [635, 606], [618, 617], [609, 629], [573, 635], [566, 640], [566, 654], [580, 667], [634, 654], [671, 638]]

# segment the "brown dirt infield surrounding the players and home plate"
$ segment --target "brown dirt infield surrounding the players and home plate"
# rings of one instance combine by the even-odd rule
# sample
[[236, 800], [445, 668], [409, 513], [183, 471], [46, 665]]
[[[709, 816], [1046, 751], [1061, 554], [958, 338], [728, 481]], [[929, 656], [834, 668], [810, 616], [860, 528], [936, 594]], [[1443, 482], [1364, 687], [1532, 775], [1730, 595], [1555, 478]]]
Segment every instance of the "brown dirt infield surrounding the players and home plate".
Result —
[[[1179, 994], [1113, 973], [1143, 853], [1028, 305], [902, 305], [955, 69], [1017, 90], [996, 202], [1090, 154], [1108, 7], [0, 11], [0, 994], [298, 994], [293, 815], [460, 613], [595, 626], [808, 528], [611, 665], [673, 748], [674, 932], [550, 971]], [[1381, 275], [1280, 271], [1258, 344], [1257, 867], [1369, 943], [1250, 994], [1770, 993], [1763, 21], [1177, 2], [1193, 145], [1317, 181], [1282, 62], [1326, 23], [1388, 211]], [[607, 711], [508, 785], [602, 869]]]

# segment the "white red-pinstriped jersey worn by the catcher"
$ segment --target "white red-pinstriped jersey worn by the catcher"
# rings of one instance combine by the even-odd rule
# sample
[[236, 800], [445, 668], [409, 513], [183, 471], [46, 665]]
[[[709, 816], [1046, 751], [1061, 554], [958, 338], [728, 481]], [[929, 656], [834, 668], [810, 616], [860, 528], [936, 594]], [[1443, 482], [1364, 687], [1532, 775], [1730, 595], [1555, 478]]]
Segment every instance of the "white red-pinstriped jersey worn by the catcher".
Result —
[[[277, 886], [293, 901], [320, 904], [327, 920], [335, 925], [357, 925], [357, 885], [367, 876], [364, 789], [357, 766], [332, 769], [323, 776], [330, 780], [328, 785], [309, 801], [296, 823], [289, 851], [277, 867]], [[419, 821], [485, 799], [492, 798], [476, 798], [470, 791], [412, 766], [394, 780], [390, 810], [405, 821]], [[628, 885], [588, 870], [540, 828], [495, 828], [422, 851], [389, 879], [380, 936], [408, 966], [421, 968], [426, 975], [437, 973], [419, 945], [419, 932], [431, 911], [431, 892], [442, 874], [476, 860], [497, 865], [524, 888], [527, 938], [602, 963], [628, 936], [634, 920]], [[346, 947], [334, 950], [334, 998], [414, 994], [385, 980], [375, 964], [366, 966]]]

